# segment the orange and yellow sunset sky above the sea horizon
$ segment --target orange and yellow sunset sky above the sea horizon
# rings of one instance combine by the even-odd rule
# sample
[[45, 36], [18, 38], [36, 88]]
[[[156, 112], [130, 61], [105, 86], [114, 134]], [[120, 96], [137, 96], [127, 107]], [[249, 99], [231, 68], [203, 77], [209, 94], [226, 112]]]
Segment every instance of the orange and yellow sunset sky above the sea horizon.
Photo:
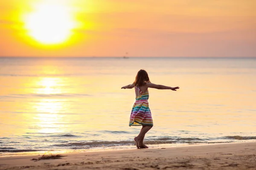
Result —
[[0, 57], [256, 57], [255, 0], [0, 0]]

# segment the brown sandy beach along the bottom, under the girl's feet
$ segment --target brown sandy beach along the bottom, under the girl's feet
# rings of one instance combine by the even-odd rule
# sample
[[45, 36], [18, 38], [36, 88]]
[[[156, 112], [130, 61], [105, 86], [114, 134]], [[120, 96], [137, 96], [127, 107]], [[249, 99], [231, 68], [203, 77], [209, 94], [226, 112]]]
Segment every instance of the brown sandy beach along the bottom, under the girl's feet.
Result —
[[0, 158], [0, 170], [256, 170], [256, 142]]

